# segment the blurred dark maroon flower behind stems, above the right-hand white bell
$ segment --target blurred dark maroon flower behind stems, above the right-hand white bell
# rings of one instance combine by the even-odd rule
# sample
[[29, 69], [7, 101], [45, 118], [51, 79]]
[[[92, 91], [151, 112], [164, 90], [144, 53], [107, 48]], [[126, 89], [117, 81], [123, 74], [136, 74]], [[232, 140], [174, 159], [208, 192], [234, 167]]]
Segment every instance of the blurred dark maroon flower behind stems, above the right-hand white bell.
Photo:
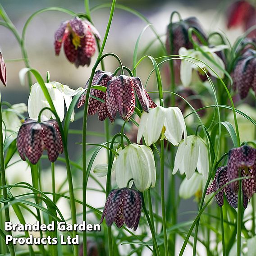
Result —
[[[195, 110], [204, 107], [201, 99], [197, 96], [197, 93], [193, 91], [191, 88], [180, 87], [178, 89], [178, 94], [185, 98]], [[184, 112], [188, 106], [186, 101], [184, 101], [181, 97], [178, 96], [176, 97], [176, 105], [180, 108], [181, 112]], [[206, 110], [200, 110], [198, 114], [200, 116], [204, 116], [206, 114]]]

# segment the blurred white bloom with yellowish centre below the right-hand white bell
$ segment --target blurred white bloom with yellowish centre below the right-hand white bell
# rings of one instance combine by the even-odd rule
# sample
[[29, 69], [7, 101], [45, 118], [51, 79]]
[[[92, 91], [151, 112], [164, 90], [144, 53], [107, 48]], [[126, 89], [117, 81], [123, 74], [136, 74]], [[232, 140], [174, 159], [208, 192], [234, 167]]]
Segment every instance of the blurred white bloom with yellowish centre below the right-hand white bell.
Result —
[[206, 184], [206, 179], [195, 172], [190, 179], [184, 178], [180, 184], [178, 194], [183, 199], [188, 199], [195, 196], [197, 199], [201, 198], [202, 189]]

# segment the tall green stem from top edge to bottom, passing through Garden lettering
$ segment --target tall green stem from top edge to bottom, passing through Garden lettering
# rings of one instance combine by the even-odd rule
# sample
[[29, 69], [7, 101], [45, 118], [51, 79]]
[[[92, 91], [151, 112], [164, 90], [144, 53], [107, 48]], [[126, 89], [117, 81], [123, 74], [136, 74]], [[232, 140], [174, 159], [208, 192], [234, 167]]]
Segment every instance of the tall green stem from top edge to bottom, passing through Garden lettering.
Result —
[[[84, 114], [83, 114], [83, 125], [82, 125], [82, 201], [83, 201], [83, 205], [82, 205], [82, 220], [86, 221], [87, 219], [87, 214], [86, 214], [86, 190], [87, 190], [87, 177], [86, 177], [86, 170], [87, 170], [87, 153], [86, 153], [86, 136], [87, 136], [87, 115], [88, 115], [88, 103], [89, 103], [89, 96], [90, 96], [90, 92], [91, 92], [91, 83], [92, 83], [92, 79], [94, 76], [94, 73], [96, 71], [96, 68], [98, 66], [98, 64], [101, 61], [101, 55], [103, 53], [106, 41], [107, 41], [107, 37], [110, 31], [110, 26], [112, 23], [112, 19], [113, 19], [113, 15], [114, 15], [114, 8], [115, 8], [115, 0], [112, 1], [112, 5], [111, 5], [111, 9], [110, 9], [110, 17], [109, 17], [109, 21], [107, 24], [107, 28], [106, 28], [106, 32], [105, 32], [105, 36], [101, 45], [101, 49], [99, 51], [99, 55], [98, 58], [96, 60], [96, 63], [94, 64], [93, 68], [91, 69], [91, 76], [89, 79], [89, 83], [88, 83], [88, 88], [87, 88], [87, 93], [86, 93], [86, 100], [85, 100], [85, 107], [84, 107]], [[106, 194], [108, 195], [108, 194]], [[108, 230], [109, 235], [111, 235], [111, 230]], [[112, 243], [112, 241], [111, 241]], [[83, 232], [83, 255], [86, 256], [87, 255], [87, 232]], [[112, 247], [111, 247], [112, 249]], [[113, 251], [112, 251], [113, 254]], [[111, 256], [111, 254], [110, 254]]]

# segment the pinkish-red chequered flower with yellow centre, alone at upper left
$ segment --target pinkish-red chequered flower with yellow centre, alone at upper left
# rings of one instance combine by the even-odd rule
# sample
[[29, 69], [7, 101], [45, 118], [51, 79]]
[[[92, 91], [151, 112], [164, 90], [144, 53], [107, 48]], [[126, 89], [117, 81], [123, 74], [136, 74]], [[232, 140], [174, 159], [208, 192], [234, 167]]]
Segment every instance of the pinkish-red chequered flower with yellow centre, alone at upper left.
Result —
[[62, 44], [67, 59], [78, 68], [89, 66], [96, 51], [96, 38], [99, 32], [87, 20], [75, 17], [60, 24], [55, 32], [55, 54], [59, 55]]

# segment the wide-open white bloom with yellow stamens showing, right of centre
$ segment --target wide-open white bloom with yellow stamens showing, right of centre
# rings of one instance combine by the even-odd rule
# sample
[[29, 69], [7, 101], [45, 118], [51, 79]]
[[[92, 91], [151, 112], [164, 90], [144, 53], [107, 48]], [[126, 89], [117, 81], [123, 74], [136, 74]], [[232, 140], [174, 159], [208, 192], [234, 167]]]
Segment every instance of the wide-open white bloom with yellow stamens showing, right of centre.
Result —
[[161, 135], [161, 140], [166, 138], [174, 146], [178, 146], [183, 134], [186, 144], [187, 130], [181, 110], [178, 107], [157, 106], [149, 110], [149, 113], [142, 113], [137, 143], [141, 141], [143, 135], [146, 145], [150, 146], [157, 142]]

